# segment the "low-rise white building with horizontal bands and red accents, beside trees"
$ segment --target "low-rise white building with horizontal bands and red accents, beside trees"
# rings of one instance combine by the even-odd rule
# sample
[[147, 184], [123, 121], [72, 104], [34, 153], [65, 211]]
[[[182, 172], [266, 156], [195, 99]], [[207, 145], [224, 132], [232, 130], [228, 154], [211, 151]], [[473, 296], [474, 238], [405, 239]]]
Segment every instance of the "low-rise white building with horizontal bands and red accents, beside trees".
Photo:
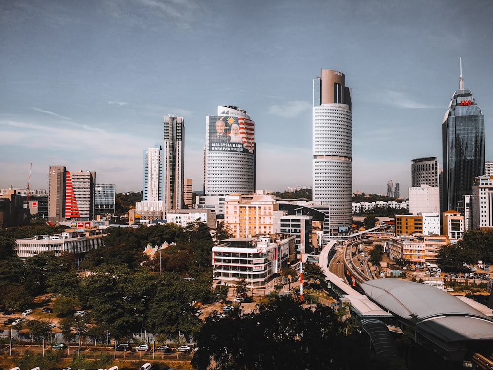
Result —
[[214, 280], [234, 285], [245, 278], [250, 288], [265, 288], [274, 274], [294, 259], [295, 236], [222, 240], [212, 248]]

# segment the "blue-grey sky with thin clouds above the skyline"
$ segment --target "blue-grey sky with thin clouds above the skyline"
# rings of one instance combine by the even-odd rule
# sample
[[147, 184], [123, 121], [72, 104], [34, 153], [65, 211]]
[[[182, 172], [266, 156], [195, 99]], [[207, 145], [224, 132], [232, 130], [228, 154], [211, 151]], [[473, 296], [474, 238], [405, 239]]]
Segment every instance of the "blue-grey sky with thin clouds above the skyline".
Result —
[[142, 190], [163, 117], [185, 122], [185, 177], [202, 190], [205, 117], [255, 121], [257, 189], [312, 186], [313, 79], [352, 88], [353, 191], [411, 185], [442, 160], [464, 87], [493, 160], [493, 1], [0, 0], [0, 188], [48, 189], [50, 165]]

